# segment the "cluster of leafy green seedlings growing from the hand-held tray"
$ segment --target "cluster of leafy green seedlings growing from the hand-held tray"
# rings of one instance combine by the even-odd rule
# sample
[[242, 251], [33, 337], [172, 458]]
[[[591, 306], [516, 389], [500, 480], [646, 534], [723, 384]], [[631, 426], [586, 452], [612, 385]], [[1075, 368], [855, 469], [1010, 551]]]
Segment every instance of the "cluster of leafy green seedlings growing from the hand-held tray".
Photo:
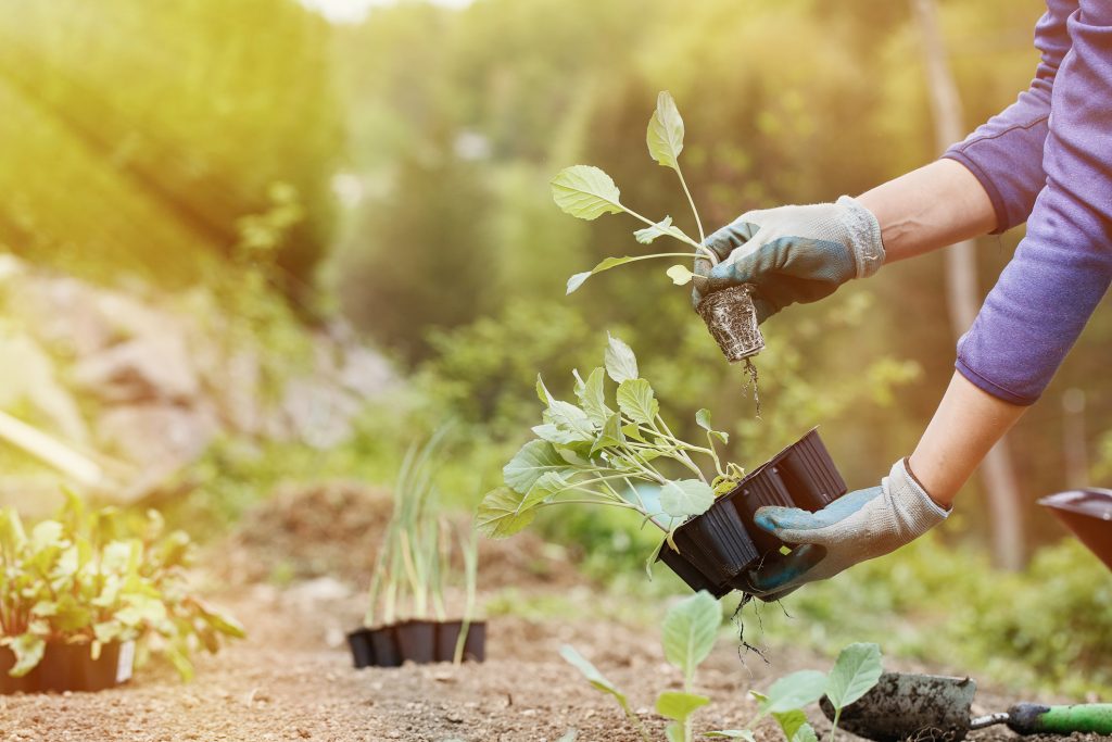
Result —
[[[675, 548], [675, 530], [706, 512], [717, 495], [741, 481], [744, 471], [724, 465], [718, 456], [716, 444], [729, 438], [711, 427], [708, 410], [695, 415], [706, 432], [706, 445], [681, 441], [661, 416], [659, 402], [652, 385], [641, 378], [628, 345], [612, 336], [604, 366], [586, 379], [575, 372], [578, 405], [556, 399], [537, 379], [537, 396], [545, 405], [543, 422], [533, 428], [536, 439], [503, 468], [505, 485], [483, 498], [476, 525], [484, 534], [513, 535], [545, 507], [604, 505], [633, 511], [643, 522], [656, 524]], [[617, 384], [613, 400], [607, 376]], [[706, 474], [696, 458], [713, 465], [714, 473]], [[669, 475], [665, 464], [681, 476]], [[652, 497], [643, 494], [645, 485]], [[658, 552], [659, 546], [647, 566]]]

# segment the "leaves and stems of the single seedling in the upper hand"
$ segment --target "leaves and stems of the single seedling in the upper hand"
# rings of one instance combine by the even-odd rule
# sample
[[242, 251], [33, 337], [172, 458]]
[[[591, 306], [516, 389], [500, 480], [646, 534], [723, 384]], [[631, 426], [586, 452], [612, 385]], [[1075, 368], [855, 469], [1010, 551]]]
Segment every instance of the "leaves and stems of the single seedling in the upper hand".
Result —
[[[695, 225], [698, 228], [699, 241], [688, 237], [679, 227], [672, 222], [671, 216], [663, 219], [649, 219], [637, 214], [622, 202], [622, 194], [614, 184], [614, 179], [606, 172], [590, 165], [574, 165], [560, 170], [552, 180], [553, 200], [565, 212], [580, 219], [597, 219], [604, 214], [628, 214], [648, 225], [643, 229], [634, 231], [634, 237], [638, 243], [648, 245], [657, 237], [671, 237], [691, 249], [685, 253], [656, 253], [653, 255], [625, 256], [620, 258], [606, 258], [597, 266], [585, 273], [575, 274], [567, 280], [567, 293], [576, 290], [583, 286], [584, 281], [597, 273], [616, 268], [617, 266], [637, 260], [648, 260], [653, 258], [692, 258], [703, 255], [712, 264], [717, 263], [717, 257], [699, 243], [705, 240], [703, 233], [703, 221], [699, 219], [698, 210], [695, 208], [695, 200], [692, 198], [691, 189], [679, 168], [679, 152], [684, 148], [684, 120], [676, 108], [676, 101], [667, 91], [661, 92], [656, 99], [656, 110], [648, 121], [648, 131], [645, 140], [648, 145], [648, 154], [663, 167], [672, 168], [679, 178], [687, 204], [691, 206], [695, 217]], [[685, 265], [674, 265], [667, 269], [667, 276], [676, 285], [683, 286], [692, 280], [693, 274]]]

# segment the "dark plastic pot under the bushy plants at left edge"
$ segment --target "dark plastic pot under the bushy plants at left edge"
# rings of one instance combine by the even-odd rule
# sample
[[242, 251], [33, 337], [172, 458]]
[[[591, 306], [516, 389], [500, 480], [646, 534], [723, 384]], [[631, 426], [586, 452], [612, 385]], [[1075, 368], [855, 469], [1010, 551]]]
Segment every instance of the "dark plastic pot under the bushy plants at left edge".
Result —
[[11, 650], [0, 650], [0, 693], [63, 693], [103, 691], [131, 679], [133, 642], [112, 642], [92, 659], [88, 644], [48, 643], [39, 664], [22, 677], [8, 672], [16, 662]]

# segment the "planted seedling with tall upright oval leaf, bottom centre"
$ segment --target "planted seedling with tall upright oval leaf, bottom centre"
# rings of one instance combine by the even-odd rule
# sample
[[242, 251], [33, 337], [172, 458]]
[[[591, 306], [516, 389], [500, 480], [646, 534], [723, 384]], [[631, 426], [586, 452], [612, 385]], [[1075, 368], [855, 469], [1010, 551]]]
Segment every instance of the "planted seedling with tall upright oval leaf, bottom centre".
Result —
[[[699, 591], [681, 601], [668, 611], [664, 619], [664, 656], [684, 674], [683, 692], [665, 691], [656, 699], [656, 713], [668, 720], [665, 726], [668, 742], [691, 742], [694, 739], [692, 736], [693, 715], [711, 702], [711, 699], [694, 692], [695, 671], [711, 654], [721, 624], [722, 611], [718, 607], [718, 602], [706, 591]], [[560, 649], [560, 656], [578, 670], [593, 687], [614, 696], [642, 740], [651, 742], [652, 736], [645, 728], [645, 723], [631, 709], [625, 693], [607, 680], [575, 647], [564, 645]]]

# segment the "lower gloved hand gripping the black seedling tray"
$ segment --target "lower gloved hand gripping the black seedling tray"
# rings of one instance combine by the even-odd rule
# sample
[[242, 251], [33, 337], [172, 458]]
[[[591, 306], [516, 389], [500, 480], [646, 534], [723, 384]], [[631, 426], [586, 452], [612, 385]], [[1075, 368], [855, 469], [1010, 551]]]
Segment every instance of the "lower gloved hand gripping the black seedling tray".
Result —
[[762, 507], [754, 522], [787, 544], [800, 544], [748, 573], [748, 590], [777, 600], [801, 585], [826, 580], [858, 562], [894, 552], [946, 520], [950, 511], [931, 499], [907, 468], [892, 466], [881, 486], [858, 489], [821, 511]]

